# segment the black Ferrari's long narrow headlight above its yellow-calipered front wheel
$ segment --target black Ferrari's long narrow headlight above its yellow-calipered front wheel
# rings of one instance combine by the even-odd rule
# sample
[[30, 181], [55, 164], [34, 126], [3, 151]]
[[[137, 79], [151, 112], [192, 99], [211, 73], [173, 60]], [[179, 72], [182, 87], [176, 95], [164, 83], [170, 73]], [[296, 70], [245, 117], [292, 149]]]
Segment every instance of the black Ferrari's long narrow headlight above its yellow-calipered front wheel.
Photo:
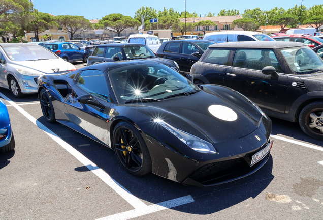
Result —
[[201, 153], [216, 153], [216, 150], [214, 149], [211, 143], [204, 141], [197, 136], [186, 133], [185, 131], [179, 130], [167, 124], [163, 120], [155, 119], [154, 122], [163, 126], [165, 129], [171, 132], [174, 136], [176, 136], [179, 140], [181, 140], [191, 149]]

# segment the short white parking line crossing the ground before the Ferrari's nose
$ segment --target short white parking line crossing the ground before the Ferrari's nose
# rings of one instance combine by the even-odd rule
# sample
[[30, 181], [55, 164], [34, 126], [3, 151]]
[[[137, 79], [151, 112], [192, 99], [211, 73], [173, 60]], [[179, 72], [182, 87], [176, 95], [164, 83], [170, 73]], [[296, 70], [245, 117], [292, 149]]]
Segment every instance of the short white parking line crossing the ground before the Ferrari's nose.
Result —
[[180, 205], [184, 205], [184, 204], [192, 203], [192, 202], [194, 202], [194, 199], [191, 196], [185, 196], [185, 197], [180, 197], [177, 199], [169, 200], [166, 202], [153, 204], [153, 205], [147, 206], [145, 208], [133, 209], [133, 210], [126, 211], [126, 212], [121, 212], [118, 214], [110, 215], [108, 217], [103, 217], [103, 218], [99, 218], [96, 220], [127, 220], [127, 219], [143, 216], [146, 214], [150, 214], [153, 212], [173, 208], [176, 206], [180, 206]]

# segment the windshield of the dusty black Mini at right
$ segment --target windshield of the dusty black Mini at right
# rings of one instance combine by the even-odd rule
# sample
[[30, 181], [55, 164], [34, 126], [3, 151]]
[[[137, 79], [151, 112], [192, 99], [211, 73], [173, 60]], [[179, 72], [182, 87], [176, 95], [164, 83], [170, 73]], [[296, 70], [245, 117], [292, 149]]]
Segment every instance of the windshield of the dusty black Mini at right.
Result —
[[308, 47], [281, 49], [281, 52], [296, 74], [311, 74], [323, 71], [323, 60]]

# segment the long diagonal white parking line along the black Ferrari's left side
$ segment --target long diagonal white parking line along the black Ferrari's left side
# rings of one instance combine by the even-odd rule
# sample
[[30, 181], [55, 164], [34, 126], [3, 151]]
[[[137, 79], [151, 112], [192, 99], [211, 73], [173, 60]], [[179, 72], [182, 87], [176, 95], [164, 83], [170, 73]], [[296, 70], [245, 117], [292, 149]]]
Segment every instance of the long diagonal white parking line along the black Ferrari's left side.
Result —
[[22, 115], [24, 115], [27, 119], [37, 125], [40, 129], [42, 129], [48, 136], [50, 136], [55, 142], [57, 142], [60, 146], [62, 146], [65, 150], [67, 150], [70, 154], [72, 154], [76, 159], [78, 159], [81, 163], [83, 163], [90, 171], [92, 171], [96, 176], [98, 176], [101, 180], [103, 180], [106, 184], [108, 184], [113, 190], [116, 191], [125, 201], [130, 203], [134, 208], [142, 208], [147, 207], [145, 203], [143, 203], [140, 199], [132, 195], [128, 190], [126, 190], [123, 186], [121, 186], [118, 182], [112, 179], [105, 171], [96, 166], [95, 163], [86, 158], [83, 154], [75, 150], [71, 145], [63, 141], [59, 136], [49, 130], [45, 125], [36, 120], [33, 116], [27, 113], [24, 109], [18, 106], [15, 102], [11, 101], [5, 95], [0, 93], [0, 96], [9, 102], [13, 107], [15, 107]]

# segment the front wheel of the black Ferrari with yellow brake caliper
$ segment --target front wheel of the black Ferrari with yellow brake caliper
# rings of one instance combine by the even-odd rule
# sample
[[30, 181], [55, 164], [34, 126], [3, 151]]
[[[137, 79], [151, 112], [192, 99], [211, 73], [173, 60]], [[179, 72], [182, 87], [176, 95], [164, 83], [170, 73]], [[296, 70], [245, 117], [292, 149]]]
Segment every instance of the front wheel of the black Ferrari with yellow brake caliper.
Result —
[[139, 131], [128, 122], [118, 123], [113, 130], [113, 148], [122, 167], [135, 176], [152, 170], [147, 145]]

